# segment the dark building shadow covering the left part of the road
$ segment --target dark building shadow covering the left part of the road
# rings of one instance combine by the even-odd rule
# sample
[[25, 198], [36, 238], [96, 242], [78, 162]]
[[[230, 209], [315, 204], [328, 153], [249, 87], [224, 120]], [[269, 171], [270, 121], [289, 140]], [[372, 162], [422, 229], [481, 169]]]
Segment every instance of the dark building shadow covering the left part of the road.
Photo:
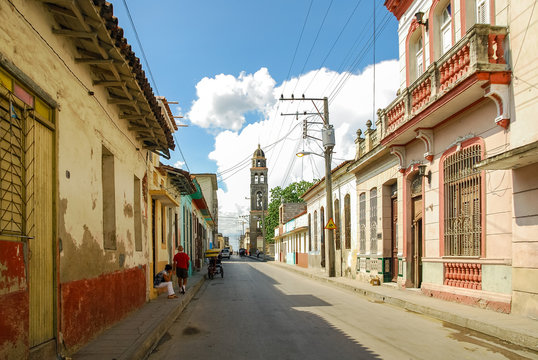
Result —
[[178, 347], [190, 359], [215, 354], [229, 359], [380, 359], [315, 313], [331, 304], [310, 294], [286, 294], [283, 284], [251, 266], [256, 261], [242, 260], [223, 261], [224, 278], [206, 281], [198, 300], [178, 319], [181, 329], [152, 358], [172, 358], [167, 354]]

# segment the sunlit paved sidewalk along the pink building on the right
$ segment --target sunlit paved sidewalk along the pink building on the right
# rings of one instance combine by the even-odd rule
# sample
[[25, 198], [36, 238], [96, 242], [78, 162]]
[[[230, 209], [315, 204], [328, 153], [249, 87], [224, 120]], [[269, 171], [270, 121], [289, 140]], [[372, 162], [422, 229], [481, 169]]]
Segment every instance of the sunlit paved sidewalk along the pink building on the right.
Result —
[[437, 298], [428, 297], [416, 290], [398, 289], [396, 286], [372, 286], [350, 278], [329, 278], [324, 272], [301, 268], [281, 262], [268, 262], [289, 271], [325, 281], [332, 285], [355, 291], [374, 301], [401, 307], [419, 314], [427, 315], [441, 321], [467, 329], [494, 336], [501, 340], [538, 350], [538, 320], [517, 315], [496, 313], [469, 305], [462, 305]]

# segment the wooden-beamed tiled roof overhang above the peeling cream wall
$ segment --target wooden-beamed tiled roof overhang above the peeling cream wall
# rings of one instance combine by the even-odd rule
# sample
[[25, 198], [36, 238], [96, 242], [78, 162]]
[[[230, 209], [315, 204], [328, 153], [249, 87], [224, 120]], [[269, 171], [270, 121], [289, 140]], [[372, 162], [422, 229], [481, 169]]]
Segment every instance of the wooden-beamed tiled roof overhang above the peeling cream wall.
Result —
[[55, 20], [52, 32], [71, 40], [76, 48], [74, 62], [89, 70], [89, 94], [104, 88], [108, 104], [117, 107], [117, 116], [127, 121], [142, 148], [169, 159], [169, 149], [175, 148], [172, 130], [140, 59], [123, 37], [112, 4], [105, 0], [47, 0], [44, 6]]

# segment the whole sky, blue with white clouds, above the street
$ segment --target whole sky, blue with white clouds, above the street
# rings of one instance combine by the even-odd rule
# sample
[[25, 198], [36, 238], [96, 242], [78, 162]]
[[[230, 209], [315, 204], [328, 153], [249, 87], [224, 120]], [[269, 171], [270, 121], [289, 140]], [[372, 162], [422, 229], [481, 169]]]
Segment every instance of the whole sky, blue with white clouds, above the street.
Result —
[[[178, 101], [179, 106], [172, 106], [174, 115], [184, 115], [182, 122], [189, 124], [176, 133], [188, 168], [177, 148], [166, 163], [192, 173], [223, 174], [219, 202], [225, 235], [236, 236], [240, 227], [224, 219], [248, 212], [246, 164], [258, 142], [267, 149], [270, 188], [323, 176], [317, 160], [293, 159], [298, 147], [317, 145], [299, 145], [301, 130], [292, 127], [297, 121], [278, 116], [304, 107], [277, 101], [281, 92], [328, 96], [338, 142], [333, 166], [339, 156], [352, 157], [355, 132], [364, 130], [373, 112], [373, 52], [366, 44], [374, 3], [376, 26], [384, 26], [376, 38], [376, 107], [394, 98], [399, 84], [397, 21], [383, 2], [127, 0], [155, 79], [154, 92]], [[143, 62], [123, 1], [113, 4]], [[147, 69], [146, 74], [151, 82]], [[289, 138], [282, 140], [288, 132]]]

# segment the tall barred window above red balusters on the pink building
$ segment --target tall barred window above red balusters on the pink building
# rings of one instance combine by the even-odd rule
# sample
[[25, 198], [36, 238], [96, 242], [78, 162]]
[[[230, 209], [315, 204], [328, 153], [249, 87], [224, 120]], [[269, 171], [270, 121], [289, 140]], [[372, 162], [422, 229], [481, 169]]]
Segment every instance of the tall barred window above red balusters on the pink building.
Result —
[[472, 145], [443, 162], [445, 255], [480, 256], [482, 234], [480, 145]]

